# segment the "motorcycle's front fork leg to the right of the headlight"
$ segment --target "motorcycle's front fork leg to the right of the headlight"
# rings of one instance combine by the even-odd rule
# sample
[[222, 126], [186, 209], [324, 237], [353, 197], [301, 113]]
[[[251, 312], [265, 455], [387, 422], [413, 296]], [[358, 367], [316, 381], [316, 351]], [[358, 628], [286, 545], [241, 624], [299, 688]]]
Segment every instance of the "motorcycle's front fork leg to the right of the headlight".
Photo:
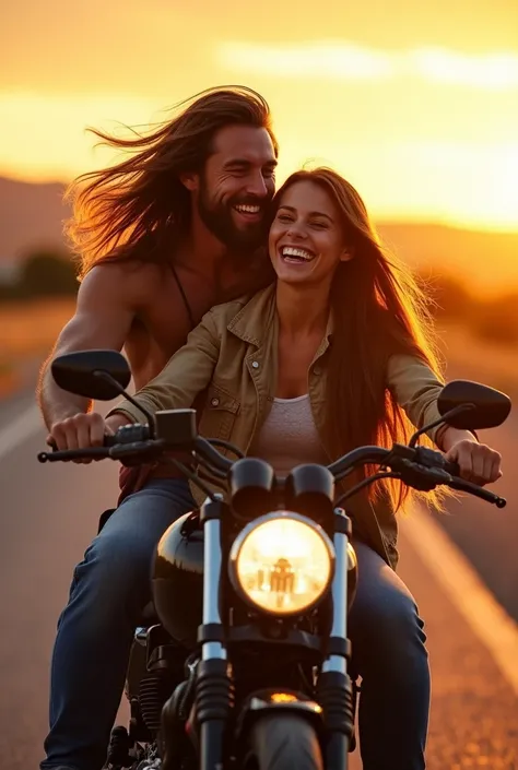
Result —
[[318, 678], [317, 699], [322, 707], [326, 733], [326, 770], [346, 770], [354, 732], [354, 698], [348, 661], [348, 572], [351, 520], [342, 508], [334, 510], [335, 569], [332, 582], [332, 627], [327, 658]]

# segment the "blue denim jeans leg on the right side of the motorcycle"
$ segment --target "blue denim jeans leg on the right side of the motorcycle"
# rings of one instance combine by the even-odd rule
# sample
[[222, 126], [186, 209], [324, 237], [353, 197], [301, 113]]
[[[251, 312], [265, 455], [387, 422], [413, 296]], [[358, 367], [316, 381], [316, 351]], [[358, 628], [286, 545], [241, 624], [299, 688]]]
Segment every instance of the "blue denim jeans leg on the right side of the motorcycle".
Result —
[[423, 770], [428, 730], [426, 636], [396, 572], [363, 543], [349, 617], [353, 667], [362, 676], [358, 737], [364, 770]]

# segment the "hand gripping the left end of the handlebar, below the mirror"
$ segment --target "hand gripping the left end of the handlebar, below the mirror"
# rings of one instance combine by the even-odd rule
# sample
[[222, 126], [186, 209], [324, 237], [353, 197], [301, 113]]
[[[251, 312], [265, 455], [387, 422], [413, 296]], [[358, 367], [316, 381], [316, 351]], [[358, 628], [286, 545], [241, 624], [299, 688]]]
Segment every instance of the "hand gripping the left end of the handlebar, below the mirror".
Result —
[[[128, 417], [120, 413], [105, 419], [96, 412], [89, 412], [87, 414], [80, 412], [55, 423], [47, 436], [47, 443], [50, 446], [55, 445], [58, 450], [102, 447], [105, 436], [113, 436], [117, 428], [130, 422]], [[73, 462], [87, 464], [92, 460], [78, 459]]]

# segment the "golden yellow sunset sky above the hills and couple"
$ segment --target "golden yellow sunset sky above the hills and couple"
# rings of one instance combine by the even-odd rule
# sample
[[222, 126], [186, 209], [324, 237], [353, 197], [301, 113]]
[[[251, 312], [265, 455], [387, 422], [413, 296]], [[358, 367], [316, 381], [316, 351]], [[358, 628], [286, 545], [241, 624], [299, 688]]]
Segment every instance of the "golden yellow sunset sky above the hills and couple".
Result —
[[0, 174], [113, 159], [87, 126], [213, 85], [269, 100], [279, 181], [342, 171], [377, 217], [518, 230], [518, 0], [19, 0], [1, 12]]

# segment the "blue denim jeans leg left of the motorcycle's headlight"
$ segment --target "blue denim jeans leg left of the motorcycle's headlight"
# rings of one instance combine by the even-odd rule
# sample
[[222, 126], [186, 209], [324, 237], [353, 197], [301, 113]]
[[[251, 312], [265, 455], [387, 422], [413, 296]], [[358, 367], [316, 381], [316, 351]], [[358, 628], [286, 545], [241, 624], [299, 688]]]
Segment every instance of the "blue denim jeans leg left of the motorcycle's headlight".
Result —
[[186, 481], [150, 482], [120, 504], [75, 567], [58, 621], [42, 768], [104, 766], [134, 630], [151, 599], [155, 546], [195, 507]]

